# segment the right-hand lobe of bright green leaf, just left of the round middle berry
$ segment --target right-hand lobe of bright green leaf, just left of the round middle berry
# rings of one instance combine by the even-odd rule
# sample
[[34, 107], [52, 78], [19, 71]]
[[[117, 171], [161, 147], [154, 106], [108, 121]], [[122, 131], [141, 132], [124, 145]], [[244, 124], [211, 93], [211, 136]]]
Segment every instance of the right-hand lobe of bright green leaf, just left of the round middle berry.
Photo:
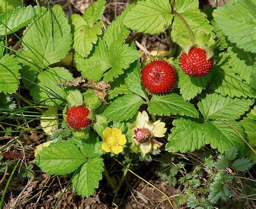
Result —
[[127, 69], [139, 57], [136, 48], [120, 42], [113, 42], [109, 47], [111, 69], [104, 74], [104, 80], [108, 82], [117, 78], [124, 73], [123, 69]]

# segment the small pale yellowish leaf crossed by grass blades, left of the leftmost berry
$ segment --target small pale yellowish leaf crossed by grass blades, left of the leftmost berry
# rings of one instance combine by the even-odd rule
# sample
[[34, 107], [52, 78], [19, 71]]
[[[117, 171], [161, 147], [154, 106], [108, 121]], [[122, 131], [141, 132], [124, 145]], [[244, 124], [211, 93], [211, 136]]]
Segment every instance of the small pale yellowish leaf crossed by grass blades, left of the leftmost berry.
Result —
[[57, 109], [49, 108], [43, 112], [40, 118], [40, 124], [44, 132], [52, 135], [58, 129], [58, 115]]

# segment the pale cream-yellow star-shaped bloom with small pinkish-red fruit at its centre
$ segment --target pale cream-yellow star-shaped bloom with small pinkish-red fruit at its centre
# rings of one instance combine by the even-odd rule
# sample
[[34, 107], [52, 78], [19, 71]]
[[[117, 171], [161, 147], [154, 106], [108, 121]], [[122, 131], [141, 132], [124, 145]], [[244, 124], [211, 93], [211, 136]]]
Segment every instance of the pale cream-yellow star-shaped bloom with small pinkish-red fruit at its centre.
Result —
[[133, 126], [133, 140], [140, 147], [143, 156], [163, 145], [163, 143], [154, 140], [154, 138], [163, 137], [166, 130], [164, 122], [158, 120], [151, 123], [145, 110], [142, 113], [138, 113], [137, 120]]

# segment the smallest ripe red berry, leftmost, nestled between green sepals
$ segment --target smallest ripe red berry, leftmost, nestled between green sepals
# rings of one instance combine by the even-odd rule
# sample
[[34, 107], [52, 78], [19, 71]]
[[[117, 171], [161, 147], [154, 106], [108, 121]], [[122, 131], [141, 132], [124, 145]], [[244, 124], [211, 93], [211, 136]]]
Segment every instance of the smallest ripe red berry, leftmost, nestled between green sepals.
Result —
[[87, 119], [89, 113], [89, 109], [85, 106], [71, 107], [66, 113], [66, 122], [73, 129], [85, 128], [92, 123]]

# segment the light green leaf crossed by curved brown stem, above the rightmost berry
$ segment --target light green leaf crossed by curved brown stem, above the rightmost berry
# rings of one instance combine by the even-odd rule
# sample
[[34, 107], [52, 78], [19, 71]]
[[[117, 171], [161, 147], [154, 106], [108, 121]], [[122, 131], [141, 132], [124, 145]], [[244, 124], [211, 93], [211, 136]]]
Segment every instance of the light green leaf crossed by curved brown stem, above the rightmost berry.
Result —
[[[210, 42], [213, 42], [214, 34], [212, 31], [212, 26], [209, 24], [209, 21], [206, 19], [205, 14], [199, 10], [186, 10], [179, 13], [190, 26], [190, 29], [193, 33], [200, 31], [200, 34], [211, 34]], [[174, 16], [172, 23], [171, 38], [181, 47], [184, 47], [191, 43], [190, 35], [187, 31], [187, 27], [180, 20], [178, 16]], [[200, 42], [200, 40], [197, 40]]]

